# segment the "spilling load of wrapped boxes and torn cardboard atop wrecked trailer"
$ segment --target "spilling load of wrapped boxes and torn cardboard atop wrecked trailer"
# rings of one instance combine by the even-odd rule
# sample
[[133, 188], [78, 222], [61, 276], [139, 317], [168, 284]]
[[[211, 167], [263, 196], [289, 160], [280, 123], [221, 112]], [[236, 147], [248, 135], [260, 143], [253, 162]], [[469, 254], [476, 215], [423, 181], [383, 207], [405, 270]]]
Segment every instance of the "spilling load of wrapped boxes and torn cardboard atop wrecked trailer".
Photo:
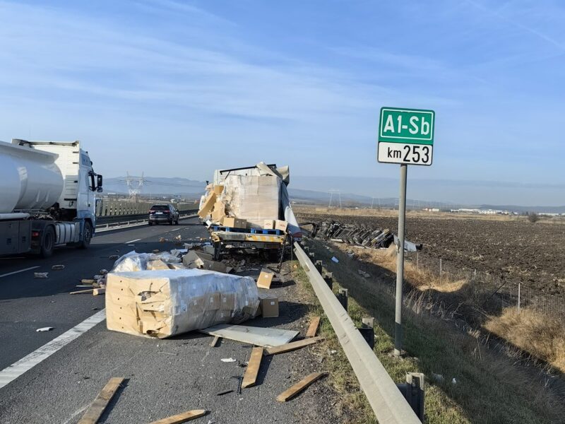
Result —
[[210, 225], [237, 229], [277, 229], [299, 236], [290, 207], [288, 167], [261, 162], [237, 170], [217, 170], [206, 187], [198, 216]]

